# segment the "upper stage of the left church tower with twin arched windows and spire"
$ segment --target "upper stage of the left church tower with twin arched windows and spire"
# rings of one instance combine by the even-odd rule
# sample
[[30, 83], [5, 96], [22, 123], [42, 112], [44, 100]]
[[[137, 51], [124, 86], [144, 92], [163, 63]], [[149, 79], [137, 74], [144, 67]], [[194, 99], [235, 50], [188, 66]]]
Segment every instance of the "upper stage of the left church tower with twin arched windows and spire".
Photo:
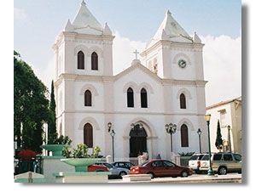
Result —
[[61, 74], [113, 76], [113, 38], [108, 24], [102, 27], [83, 0], [53, 46], [56, 79]]

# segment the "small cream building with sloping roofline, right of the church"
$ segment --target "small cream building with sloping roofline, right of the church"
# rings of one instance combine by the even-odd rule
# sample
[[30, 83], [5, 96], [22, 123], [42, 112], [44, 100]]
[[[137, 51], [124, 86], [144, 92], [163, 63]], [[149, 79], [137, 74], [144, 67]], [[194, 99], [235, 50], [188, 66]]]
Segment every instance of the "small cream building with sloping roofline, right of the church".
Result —
[[207, 107], [207, 113], [211, 114], [212, 152], [219, 151], [215, 146], [219, 120], [224, 144], [222, 151], [232, 151], [241, 154], [241, 97], [212, 104]]

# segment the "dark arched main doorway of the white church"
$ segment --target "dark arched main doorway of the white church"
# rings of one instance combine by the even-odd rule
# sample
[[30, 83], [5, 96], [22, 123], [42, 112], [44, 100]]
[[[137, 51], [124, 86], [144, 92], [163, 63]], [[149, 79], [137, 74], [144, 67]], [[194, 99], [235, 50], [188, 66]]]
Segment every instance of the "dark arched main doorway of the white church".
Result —
[[137, 124], [130, 132], [130, 157], [137, 157], [147, 152], [147, 133]]

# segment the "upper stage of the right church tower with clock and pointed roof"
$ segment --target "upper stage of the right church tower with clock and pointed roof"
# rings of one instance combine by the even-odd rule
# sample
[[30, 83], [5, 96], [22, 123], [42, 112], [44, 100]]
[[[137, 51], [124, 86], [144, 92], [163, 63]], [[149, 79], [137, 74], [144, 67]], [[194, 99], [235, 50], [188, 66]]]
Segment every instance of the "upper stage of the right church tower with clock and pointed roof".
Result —
[[142, 53], [143, 61], [160, 78], [202, 81], [203, 46], [196, 33], [189, 37], [167, 10], [165, 19]]

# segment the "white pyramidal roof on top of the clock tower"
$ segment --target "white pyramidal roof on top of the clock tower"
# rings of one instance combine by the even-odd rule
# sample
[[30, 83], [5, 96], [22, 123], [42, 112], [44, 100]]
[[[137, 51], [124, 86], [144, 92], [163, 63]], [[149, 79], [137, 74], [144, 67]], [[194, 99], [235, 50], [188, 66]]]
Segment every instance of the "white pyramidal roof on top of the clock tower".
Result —
[[162, 21], [160, 27], [156, 31], [151, 42], [147, 47], [151, 47], [155, 42], [160, 40], [169, 40], [172, 42], [193, 42], [192, 37], [177, 23], [172, 17], [169, 10], [166, 11], [166, 17]]

